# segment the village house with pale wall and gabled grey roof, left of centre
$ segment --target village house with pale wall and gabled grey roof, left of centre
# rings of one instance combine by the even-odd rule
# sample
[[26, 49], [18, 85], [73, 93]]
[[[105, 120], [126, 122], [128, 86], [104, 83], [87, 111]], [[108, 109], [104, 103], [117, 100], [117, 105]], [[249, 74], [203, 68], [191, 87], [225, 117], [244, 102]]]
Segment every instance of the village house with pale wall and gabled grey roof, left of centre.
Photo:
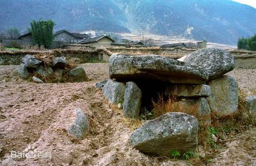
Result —
[[115, 42], [113, 39], [106, 35], [89, 38], [89, 39], [83, 39], [80, 42], [77, 42], [76, 44], [87, 44], [90, 45], [90, 47], [110, 47], [112, 43]]

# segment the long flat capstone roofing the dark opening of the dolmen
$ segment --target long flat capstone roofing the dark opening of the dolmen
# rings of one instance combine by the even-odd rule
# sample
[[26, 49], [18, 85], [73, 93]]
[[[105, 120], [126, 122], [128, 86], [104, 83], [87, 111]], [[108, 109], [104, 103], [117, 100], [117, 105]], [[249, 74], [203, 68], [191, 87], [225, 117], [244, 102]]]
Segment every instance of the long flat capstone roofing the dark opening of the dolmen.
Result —
[[117, 80], [160, 80], [179, 84], [204, 84], [208, 73], [187, 63], [156, 55], [129, 56], [114, 53], [110, 77]]

